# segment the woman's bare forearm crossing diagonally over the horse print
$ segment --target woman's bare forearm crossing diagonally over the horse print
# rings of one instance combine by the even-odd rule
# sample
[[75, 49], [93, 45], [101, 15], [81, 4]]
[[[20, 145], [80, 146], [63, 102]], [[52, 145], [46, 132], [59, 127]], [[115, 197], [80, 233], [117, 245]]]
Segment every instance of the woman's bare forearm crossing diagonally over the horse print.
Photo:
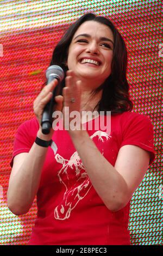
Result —
[[105, 159], [86, 131], [71, 131], [70, 135], [91, 183], [106, 207], [111, 211], [123, 208], [128, 194], [123, 177]]

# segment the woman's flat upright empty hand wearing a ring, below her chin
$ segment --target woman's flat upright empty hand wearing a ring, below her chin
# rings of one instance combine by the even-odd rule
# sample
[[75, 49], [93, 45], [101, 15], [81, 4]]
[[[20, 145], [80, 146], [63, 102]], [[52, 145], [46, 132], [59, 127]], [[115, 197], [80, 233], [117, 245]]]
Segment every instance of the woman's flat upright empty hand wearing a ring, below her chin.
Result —
[[[81, 83], [82, 83], [82, 81], [76, 81], [76, 77], [72, 70], [68, 70], [66, 72], [66, 75], [67, 76], [65, 78], [65, 87], [63, 89], [63, 95], [64, 95], [63, 114], [64, 114], [64, 119], [66, 119], [66, 123], [68, 123], [68, 126], [69, 126], [69, 127], [65, 127], [65, 129], [70, 131], [70, 130], [72, 130], [72, 127], [71, 127], [72, 119], [78, 118], [80, 116], [80, 103], [81, 103], [81, 93], [82, 93]], [[76, 111], [78, 116], [75, 114], [74, 111]], [[67, 122], [67, 120], [68, 120], [68, 122]], [[81, 120], [79, 120], [79, 121], [80, 121], [80, 125], [81, 125]], [[65, 121], [64, 121], [64, 123], [65, 123]]]

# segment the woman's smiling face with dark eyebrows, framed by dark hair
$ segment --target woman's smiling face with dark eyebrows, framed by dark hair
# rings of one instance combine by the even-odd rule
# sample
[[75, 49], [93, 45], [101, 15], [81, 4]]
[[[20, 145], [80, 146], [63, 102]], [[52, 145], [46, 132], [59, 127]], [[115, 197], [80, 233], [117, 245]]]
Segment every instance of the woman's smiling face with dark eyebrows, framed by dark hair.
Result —
[[80, 80], [102, 84], [111, 74], [113, 44], [114, 36], [108, 26], [96, 21], [82, 23], [68, 49], [68, 69]]

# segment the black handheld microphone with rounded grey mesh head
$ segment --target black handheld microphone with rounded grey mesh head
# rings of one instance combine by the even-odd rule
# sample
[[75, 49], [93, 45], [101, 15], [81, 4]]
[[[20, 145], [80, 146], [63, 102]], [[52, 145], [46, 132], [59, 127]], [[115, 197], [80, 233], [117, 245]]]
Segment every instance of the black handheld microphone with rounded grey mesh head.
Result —
[[[52, 82], [52, 80], [56, 78], [58, 80], [57, 87], [59, 87], [60, 82], [64, 79], [64, 70], [62, 70], [61, 67], [57, 65], [49, 66], [46, 71], [46, 78], [48, 80], [47, 84], [49, 84], [50, 82]], [[43, 134], [49, 134], [52, 128], [52, 114], [53, 114], [53, 107], [55, 104], [54, 97], [57, 95], [57, 87], [54, 88], [51, 100], [46, 104], [45, 108], [43, 109], [42, 119], [41, 119]]]

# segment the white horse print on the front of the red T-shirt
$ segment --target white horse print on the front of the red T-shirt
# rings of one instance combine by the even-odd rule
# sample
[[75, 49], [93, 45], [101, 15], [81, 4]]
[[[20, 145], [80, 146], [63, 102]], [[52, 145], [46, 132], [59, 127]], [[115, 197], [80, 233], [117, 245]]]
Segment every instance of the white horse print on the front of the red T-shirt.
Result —
[[[93, 139], [96, 136], [101, 142], [111, 138], [103, 131], [96, 131], [90, 138]], [[59, 154], [55, 155], [55, 159], [62, 164], [58, 177], [61, 184], [66, 187], [66, 191], [61, 204], [54, 210], [54, 217], [57, 220], [66, 220], [78, 202], [90, 191], [92, 185], [77, 151], [73, 153], [70, 160], [64, 159]]]

